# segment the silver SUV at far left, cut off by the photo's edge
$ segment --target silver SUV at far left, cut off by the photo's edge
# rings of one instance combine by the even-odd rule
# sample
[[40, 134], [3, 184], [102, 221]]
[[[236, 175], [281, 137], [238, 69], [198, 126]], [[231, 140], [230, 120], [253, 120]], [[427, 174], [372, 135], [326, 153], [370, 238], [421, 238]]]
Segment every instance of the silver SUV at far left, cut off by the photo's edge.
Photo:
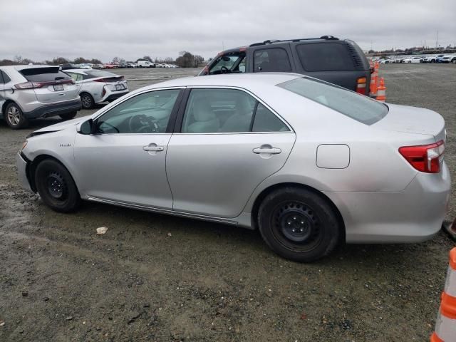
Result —
[[10, 128], [56, 115], [68, 120], [80, 109], [76, 84], [58, 66], [0, 66], [0, 117]]

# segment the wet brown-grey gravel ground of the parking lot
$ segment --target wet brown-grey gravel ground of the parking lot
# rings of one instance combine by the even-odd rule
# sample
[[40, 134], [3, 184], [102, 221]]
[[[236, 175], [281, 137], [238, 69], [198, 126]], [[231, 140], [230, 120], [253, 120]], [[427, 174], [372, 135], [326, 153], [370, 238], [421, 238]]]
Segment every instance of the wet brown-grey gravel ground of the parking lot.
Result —
[[[115, 72], [135, 89], [197, 70]], [[380, 76], [389, 102], [445, 117], [456, 179], [456, 66], [389, 64]], [[19, 188], [14, 161], [31, 130], [56, 122], [0, 123], [0, 341], [428, 341], [445, 234], [296, 264], [222, 224], [95, 203], [57, 214]]]

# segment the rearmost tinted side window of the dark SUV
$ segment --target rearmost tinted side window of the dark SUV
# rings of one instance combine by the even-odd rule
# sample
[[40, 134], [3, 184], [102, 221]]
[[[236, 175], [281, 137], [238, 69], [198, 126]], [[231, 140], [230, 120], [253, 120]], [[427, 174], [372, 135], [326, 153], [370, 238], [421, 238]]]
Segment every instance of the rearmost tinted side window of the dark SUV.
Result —
[[356, 70], [348, 48], [341, 43], [306, 43], [296, 46], [306, 71]]

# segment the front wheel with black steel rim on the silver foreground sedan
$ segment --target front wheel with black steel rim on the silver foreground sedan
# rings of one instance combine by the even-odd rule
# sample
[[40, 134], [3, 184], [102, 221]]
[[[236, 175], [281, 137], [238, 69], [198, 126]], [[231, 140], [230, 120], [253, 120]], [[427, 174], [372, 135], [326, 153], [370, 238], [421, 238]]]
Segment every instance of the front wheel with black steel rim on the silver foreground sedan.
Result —
[[73, 177], [56, 160], [46, 159], [38, 164], [35, 185], [43, 202], [56, 212], [73, 212], [81, 204]]

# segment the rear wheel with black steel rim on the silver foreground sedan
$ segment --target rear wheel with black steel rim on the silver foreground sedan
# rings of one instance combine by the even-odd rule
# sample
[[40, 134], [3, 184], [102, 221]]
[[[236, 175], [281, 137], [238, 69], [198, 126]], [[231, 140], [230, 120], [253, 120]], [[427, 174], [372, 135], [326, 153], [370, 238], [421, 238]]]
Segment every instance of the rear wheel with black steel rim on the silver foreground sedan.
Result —
[[284, 187], [267, 195], [259, 207], [261, 237], [285, 259], [311, 262], [330, 254], [341, 236], [331, 205], [310, 190]]

